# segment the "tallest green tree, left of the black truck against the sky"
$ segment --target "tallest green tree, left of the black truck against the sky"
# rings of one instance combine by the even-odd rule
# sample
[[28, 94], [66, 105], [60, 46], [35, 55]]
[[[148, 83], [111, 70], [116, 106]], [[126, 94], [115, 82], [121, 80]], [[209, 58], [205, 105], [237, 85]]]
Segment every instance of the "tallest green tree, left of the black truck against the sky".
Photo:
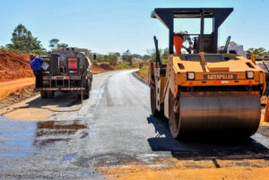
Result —
[[12, 36], [12, 43], [6, 45], [8, 48], [20, 50], [24, 53], [32, 53], [33, 51], [43, 52], [46, 50], [42, 47], [38, 38], [34, 38], [30, 30], [27, 30], [22, 24], [15, 27]]

